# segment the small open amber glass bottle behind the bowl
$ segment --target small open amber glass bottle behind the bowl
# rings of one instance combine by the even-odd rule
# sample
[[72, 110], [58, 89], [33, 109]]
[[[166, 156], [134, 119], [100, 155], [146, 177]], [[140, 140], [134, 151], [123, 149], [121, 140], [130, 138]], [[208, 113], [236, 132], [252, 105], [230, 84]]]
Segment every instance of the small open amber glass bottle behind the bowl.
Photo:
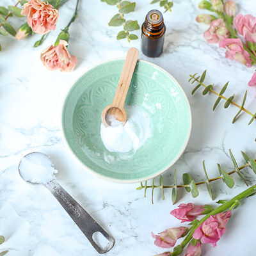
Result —
[[141, 50], [148, 57], [158, 57], [163, 52], [165, 25], [161, 12], [151, 10], [141, 27]]

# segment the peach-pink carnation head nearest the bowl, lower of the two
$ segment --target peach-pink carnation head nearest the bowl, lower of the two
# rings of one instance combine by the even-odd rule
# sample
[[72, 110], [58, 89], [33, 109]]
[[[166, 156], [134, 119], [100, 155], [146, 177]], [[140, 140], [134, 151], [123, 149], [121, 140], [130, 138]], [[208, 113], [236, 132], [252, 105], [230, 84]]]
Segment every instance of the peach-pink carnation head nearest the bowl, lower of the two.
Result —
[[40, 59], [49, 70], [71, 71], [76, 65], [77, 58], [67, 49], [68, 43], [60, 40], [57, 46], [49, 46], [41, 52]]

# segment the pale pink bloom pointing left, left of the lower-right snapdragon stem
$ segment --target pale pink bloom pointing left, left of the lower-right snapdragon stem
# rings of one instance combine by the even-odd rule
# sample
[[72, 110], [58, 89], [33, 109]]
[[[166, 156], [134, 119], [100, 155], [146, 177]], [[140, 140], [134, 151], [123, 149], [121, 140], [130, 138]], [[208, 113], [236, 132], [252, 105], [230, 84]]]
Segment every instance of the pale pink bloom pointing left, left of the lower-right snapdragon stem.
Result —
[[179, 239], [185, 233], [186, 233], [186, 228], [179, 227], [179, 228], [168, 228], [163, 232], [158, 233], [160, 236], [155, 235], [153, 232], [151, 234], [152, 234], [152, 237], [156, 239], [155, 241], [156, 246], [159, 246], [162, 248], [171, 248], [175, 246], [177, 239]]

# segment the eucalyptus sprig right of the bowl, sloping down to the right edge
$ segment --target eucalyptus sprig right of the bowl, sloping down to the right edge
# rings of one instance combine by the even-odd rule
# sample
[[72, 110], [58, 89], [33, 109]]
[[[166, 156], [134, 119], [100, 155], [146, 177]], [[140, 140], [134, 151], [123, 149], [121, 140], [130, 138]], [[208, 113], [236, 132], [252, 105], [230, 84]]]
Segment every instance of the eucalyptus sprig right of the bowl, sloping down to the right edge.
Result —
[[234, 116], [233, 120], [232, 120], [232, 124], [234, 124], [234, 122], [236, 122], [239, 114], [244, 111], [247, 114], [249, 114], [250, 116], [252, 116], [252, 118], [250, 119], [250, 122], [248, 123], [248, 125], [252, 124], [252, 122], [256, 119], [256, 113], [253, 114], [250, 111], [248, 111], [247, 109], [244, 108], [244, 103], [246, 100], [246, 95], [247, 95], [247, 90], [244, 93], [244, 97], [243, 97], [243, 102], [241, 104], [241, 106], [239, 104], [237, 104], [236, 102], [234, 102], [234, 97], [235, 95], [232, 95], [228, 98], [223, 96], [223, 93], [226, 91], [227, 86], [228, 86], [228, 82], [223, 86], [223, 88], [221, 89], [220, 93], [215, 92], [212, 88], [213, 88], [213, 84], [209, 84], [209, 85], [205, 85], [204, 79], [205, 79], [205, 75], [206, 75], [206, 70], [203, 72], [202, 76], [199, 76], [198, 73], [194, 74], [194, 75], [189, 75], [191, 78], [189, 79], [189, 82], [193, 83], [198, 83], [195, 88], [192, 90], [191, 94], [193, 95], [196, 90], [198, 90], [198, 88], [200, 88], [201, 86], [204, 87], [204, 90], [202, 92], [203, 95], [206, 95], [209, 92], [214, 93], [215, 95], [218, 96], [218, 99], [216, 100], [216, 102], [214, 103], [214, 106], [212, 108], [212, 110], [214, 111], [216, 109], [216, 107], [218, 106], [218, 104], [220, 103], [220, 100], [223, 99], [225, 100], [225, 104], [224, 104], [224, 108], [228, 108], [228, 106], [230, 106], [230, 104], [236, 106], [237, 108], [239, 108], [239, 111], [237, 112], [236, 116]]

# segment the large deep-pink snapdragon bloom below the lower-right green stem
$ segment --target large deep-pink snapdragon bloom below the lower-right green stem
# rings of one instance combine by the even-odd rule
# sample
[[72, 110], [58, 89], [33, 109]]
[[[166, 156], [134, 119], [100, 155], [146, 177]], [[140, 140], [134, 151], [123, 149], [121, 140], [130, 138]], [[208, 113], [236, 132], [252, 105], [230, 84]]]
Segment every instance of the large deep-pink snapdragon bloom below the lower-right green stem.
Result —
[[220, 212], [210, 216], [198, 228], [196, 228], [193, 238], [200, 239], [201, 243], [211, 243], [216, 246], [216, 242], [226, 232], [226, 224], [231, 216], [231, 211]]

